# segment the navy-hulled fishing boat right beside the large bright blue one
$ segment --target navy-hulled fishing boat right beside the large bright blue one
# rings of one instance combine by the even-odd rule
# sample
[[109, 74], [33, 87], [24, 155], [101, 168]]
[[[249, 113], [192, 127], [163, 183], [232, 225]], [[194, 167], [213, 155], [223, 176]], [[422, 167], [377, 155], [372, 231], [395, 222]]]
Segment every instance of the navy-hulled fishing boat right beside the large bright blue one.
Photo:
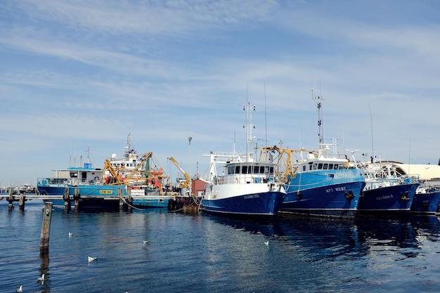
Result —
[[358, 204], [359, 216], [407, 216], [420, 185], [417, 175], [399, 174], [386, 162], [367, 162], [365, 188]]

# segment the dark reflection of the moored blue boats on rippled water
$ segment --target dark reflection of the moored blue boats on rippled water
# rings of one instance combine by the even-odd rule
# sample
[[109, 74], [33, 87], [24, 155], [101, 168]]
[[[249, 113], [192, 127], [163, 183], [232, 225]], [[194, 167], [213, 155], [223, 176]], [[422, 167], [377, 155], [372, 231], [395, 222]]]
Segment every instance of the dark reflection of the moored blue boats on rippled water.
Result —
[[278, 217], [247, 221], [211, 216], [213, 221], [237, 230], [262, 234], [284, 245], [285, 252], [307, 253], [312, 259], [356, 259], [368, 254], [398, 252], [418, 256], [424, 242], [436, 242], [440, 223], [436, 216], [409, 219], [317, 219]]

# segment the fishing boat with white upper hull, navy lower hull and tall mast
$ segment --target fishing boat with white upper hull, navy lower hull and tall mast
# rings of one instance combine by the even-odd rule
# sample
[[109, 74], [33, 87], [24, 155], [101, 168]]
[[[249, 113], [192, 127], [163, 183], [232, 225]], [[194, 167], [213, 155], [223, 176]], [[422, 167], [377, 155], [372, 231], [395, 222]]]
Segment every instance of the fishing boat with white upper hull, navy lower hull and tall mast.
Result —
[[[247, 103], [247, 146], [252, 145], [252, 105]], [[248, 148], [246, 148], [248, 149]], [[210, 152], [202, 211], [226, 216], [275, 216], [286, 195], [273, 162], [257, 162], [254, 154]]]

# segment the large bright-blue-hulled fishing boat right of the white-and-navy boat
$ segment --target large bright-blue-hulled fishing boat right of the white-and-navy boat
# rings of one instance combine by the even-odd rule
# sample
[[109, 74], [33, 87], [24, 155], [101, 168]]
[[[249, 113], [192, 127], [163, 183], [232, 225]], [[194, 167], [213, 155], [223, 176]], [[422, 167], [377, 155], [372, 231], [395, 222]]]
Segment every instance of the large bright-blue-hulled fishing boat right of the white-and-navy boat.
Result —
[[318, 150], [292, 150], [266, 147], [261, 153], [273, 154], [284, 174], [287, 196], [280, 214], [306, 216], [356, 216], [359, 196], [365, 186], [363, 170], [352, 168], [349, 159], [339, 154], [337, 140], [323, 143], [321, 100], [318, 102]]

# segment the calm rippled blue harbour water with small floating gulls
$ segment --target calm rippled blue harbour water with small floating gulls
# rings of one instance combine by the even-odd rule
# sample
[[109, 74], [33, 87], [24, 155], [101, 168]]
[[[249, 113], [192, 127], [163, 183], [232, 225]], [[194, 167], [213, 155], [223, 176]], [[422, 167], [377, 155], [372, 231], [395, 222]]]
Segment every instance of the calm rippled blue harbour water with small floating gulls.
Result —
[[[256, 223], [166, 209], [55, 209], [44, 259], [41, 207], [33, 200], [25, 212], [18, 203], [8, 211], [8, 202], [0, 201], [0, 292], [20, 285], [23, 292], [440, 290], [436, 217]], [[87, 256], [98, 259], [88, 263]], [[37, 282], [41, 273], [44, 285]]]

